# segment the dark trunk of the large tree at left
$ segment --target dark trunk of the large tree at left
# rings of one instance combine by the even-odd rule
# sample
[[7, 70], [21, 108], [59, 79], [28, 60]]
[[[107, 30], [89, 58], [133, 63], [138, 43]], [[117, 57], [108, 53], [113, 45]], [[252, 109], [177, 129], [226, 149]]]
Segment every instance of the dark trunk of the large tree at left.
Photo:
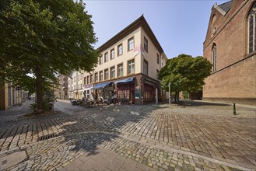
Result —
[[40, 66], [36, 66], [36, 93], [37, 93], [37, 113], [44, 112], [43, 104], [43, 78]]

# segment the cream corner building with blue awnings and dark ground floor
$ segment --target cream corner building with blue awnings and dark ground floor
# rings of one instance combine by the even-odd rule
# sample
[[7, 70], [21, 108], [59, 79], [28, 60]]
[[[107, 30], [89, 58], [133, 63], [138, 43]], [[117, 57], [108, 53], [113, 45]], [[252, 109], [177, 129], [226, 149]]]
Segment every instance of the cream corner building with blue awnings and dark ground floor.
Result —
[[93, 72], [84, 73], [84, 96], [117, 98], [141, 105], [164, 98], [158, 72], [167, 56], [144, 16], [100, 46], [101, 56]]

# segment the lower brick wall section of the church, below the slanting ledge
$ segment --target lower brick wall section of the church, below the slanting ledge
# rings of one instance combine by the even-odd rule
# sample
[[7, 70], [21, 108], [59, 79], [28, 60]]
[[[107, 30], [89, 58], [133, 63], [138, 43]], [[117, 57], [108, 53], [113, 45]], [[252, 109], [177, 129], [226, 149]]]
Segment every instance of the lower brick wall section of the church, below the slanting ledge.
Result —
[[[255, 65], [256, 54], [223, 71], [212, 74], [209, 78], [205, 79], [203, 99], [223, 98], [225, 100], [220, 101], [230, 103], [233, 103], [233, 101], [238, 103], [240, 101], [240, 103], [256, 105]], [[248, 99], [251, 99], [251, 102]]]

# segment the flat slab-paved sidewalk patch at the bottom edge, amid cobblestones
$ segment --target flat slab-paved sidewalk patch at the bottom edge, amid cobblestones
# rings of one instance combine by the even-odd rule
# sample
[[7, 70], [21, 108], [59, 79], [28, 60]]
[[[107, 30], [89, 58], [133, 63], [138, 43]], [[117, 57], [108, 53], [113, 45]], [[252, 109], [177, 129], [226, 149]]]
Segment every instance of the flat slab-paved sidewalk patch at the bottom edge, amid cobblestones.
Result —
[[117, 155], [115, 152], [107, 148], [99, 148], [95, 154], [89, 152], [81, 155], [78, 159], [72, 161], [68, 166], [65, 166], [61, 171], [68, 170], [156, 170], [143, 165], [135, 160], [128, 159], [124, 156]]

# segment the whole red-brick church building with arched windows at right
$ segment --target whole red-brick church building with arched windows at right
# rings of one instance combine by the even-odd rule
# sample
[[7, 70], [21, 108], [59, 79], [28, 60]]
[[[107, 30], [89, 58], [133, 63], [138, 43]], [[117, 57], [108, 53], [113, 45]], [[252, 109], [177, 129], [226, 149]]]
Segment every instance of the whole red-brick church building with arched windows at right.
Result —
[[213, 68], [203, 99], [256, 105], [256, 1], [213, 5], [204, 57]]

